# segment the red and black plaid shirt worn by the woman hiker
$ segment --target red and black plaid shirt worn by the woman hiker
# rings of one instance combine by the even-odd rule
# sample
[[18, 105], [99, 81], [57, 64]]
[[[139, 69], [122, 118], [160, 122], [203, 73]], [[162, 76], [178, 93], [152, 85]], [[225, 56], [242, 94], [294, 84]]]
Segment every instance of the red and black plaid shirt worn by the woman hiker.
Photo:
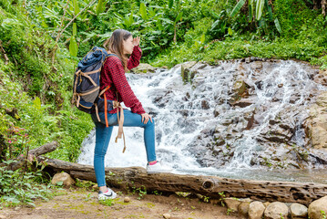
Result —
[[[128, 59], [128, 69], [138, 67], [141, 56], [141, 48], [134, 47], [133, 53]], [[106, 92], [107, 99], [116, 100], [116, 92], [118, 91], [118, 101], [124, 102], [125, 106], [130, 108], [132, 112], [138, 114], [146, 112], [130, 88], [128, 79], [125, 76], [125, 69], [118, 57], [108, 57], [104, 68], [101, 70], [100, 90], [106, 89], [107, 86], [110, 87]], [[117, 109], [109, 111], [109, 113], [116, 112]]]

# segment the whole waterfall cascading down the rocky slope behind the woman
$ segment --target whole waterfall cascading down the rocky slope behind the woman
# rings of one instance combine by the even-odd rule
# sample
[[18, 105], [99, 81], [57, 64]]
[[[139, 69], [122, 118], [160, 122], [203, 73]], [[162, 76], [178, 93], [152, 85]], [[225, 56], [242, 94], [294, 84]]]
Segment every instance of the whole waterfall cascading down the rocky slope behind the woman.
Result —
[[[156, 120], [158, 160], [178, 173], [225, 176], [261, 170], [271, 156], [286, 167], [296, 165], [282, 159], [292, 145], [304, 147], [301, 123], [308, 117], [312, 94], [325, 90], [312, 80], [314, 69], [291, 60], [238, 60], [221, 61], [218, 66], [198, 63], [190, 72], [194, 74], [189, 82], [183, 81], [180, 65], [127, 74], [144, 109]], [[245, 92], [235, 89], [238, 83]], [[114, 142], [117, 132], [115, 127], [106, 166], [145, 167], [143, 129], [124, 128], [125, 153], [123, 141]], [[77, 162], [93, 165], [94, 147], [92, 130]], [[274, 155], [265, 157], [270, 153]]]

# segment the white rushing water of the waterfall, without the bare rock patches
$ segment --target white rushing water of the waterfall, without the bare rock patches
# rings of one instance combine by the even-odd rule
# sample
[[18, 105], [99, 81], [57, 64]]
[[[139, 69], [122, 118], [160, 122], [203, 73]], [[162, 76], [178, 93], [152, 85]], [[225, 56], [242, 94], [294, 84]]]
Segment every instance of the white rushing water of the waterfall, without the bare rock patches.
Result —
[[[245, 108], [233, 109], [228, 104], [229, 92], [233, 87], [238, 75], [238, 63], [221, 62], [218, 67], [207, 66], [194, 78], [192, 85], [184, 84], [180, 77], [180, 68], [169, 70], [158, 70], [152, 74], [127, 74], [128, 82], [145, 110], [154, 113], [156, 120], [156, 151], [158, 160], [172, 167], [174, 172], [191, 174], [213, 174], [234, 176], [234, 174], [250, 174], [249, 170], [251, 151], [261, 150], [256, 141], [258, 136], [271, 118], [275, 118], [285, 107], [290, 105], [290, 98], [296, 94], [296, 105], [306, 105], [306, 99], [312, 89], [324, 89], [309, 78], [303, 69], [303, 64], [293, 61], [281, 61], [278, 67], [264, 74], [261, 84], [253, 84], [256, 96], [260, 101]], [[248, 69], [246, 78], [249, 81], [258, 79], [259, 74]], [[294, 82], [296, 88], [294, 89]], [[278, 85], [283, 85], [279, 99], [271, 101], [275, 97]], [[303, 91], [299, 94], [298, 90]], [[209, 109], [204, 110], [201, 106], [206, 100]], [[157, 103], [156, 103], [157, 102]], [[158, 104], [158, 102], [160, 104]], [[271, 104], [271, 102], [274, 102]], [[253, 108], [265, 106], [260, 126], [251, 130], [244, 130], [242, 137], [234, 141], [235, 151], [230, 163], [222, 169], [213, 167], [201, 167], [197, 159], [189, 152], [189, 145], [194, 138], [200, 135], [200, 131], [209, 125], [215, 127], [217, 124], [233, 118], [235, 113], [250, 111]], [[215, 117], [213, 110], [220, 111]], [[183, 113], [187, 110], [187, 116]], [[304, 115], [305, 116], [305, 113]], [[303, 118], [304, 119], [304, 118]], [[123, 141], [115, 143], [118, 129], [114, 128], [106, 155], [107, 167], [142, 166], [147, 163], [146, 151], [143, 142], [143, 129], [124, 127], [126, 135], [127, 150], [122, 153]], [[303, 144], [301, 130], [297, 132], [295, 141], [298, 145]], [[300, 137], [299, 137], [300, 136]], [[83, 142], [78, 163], [93, 165], [95, 147], [95, 131], [89, 134]], [[245, 171], [244, 171], [245, 170]]]

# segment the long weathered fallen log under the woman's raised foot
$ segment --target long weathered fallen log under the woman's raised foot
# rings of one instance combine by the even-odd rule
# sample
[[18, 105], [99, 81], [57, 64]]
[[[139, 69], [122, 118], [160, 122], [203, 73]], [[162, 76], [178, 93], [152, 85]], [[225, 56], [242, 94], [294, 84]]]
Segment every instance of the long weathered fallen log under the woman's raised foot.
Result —
[[[46, 162], [45, 170], [67, 172], [72, 177], [96, 183], [91, 165], [39, 158]], [[173, 173], [147, 174], [142, 167], [106, 168], [107, 184], [116, 188], [146, 188], [158, 192], [200, 193], [211, 198], [250, 198], [252, 200], [309, 204], [327, 195], [327, 184], [289, 183], [236, 180], [217, 176], [182, 175]]]

